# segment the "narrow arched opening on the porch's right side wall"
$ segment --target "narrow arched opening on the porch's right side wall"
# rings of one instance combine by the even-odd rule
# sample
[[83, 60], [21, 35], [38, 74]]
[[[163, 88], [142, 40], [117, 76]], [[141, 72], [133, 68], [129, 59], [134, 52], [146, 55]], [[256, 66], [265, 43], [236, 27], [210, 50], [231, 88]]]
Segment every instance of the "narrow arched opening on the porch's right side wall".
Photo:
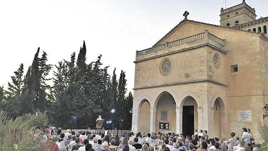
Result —
[[213, 137], [222, 138], [222, 126], [224, 121], [224, 102], [221, 98], [217, 98], [213, 105]]

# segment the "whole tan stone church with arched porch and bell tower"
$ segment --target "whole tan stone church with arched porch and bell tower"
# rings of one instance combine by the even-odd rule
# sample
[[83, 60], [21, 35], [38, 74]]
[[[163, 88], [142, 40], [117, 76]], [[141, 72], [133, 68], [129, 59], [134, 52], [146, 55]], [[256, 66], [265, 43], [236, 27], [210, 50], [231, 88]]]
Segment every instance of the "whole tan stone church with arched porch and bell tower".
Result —
[[203, 129], [227, 138], [246, 127], [257, 136], [268, 103], [268, 18], [256, 20], [244, 0], [221, 9], [221, 26], [188, 14], [151, 48], [136, 51], [132, 131]]

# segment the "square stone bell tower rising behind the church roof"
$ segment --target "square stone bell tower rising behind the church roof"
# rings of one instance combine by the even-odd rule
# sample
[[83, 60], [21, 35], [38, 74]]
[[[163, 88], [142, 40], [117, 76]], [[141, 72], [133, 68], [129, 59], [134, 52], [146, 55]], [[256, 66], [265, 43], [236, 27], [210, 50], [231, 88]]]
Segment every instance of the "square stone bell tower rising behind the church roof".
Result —
[[246, 4], [245, 0], [239, 5], [220, 10], [220, 26], [235, 27], [256, 20], [256, 12]]

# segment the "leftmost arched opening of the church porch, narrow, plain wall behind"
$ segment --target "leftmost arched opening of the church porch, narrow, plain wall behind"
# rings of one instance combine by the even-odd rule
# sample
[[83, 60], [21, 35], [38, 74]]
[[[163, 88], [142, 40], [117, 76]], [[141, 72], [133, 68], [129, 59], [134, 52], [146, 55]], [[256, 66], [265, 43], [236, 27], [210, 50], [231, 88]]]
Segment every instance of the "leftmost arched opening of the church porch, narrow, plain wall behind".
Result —
[[150, 132], [150, 103], [144, 99], [140, 103], [139, 131]]

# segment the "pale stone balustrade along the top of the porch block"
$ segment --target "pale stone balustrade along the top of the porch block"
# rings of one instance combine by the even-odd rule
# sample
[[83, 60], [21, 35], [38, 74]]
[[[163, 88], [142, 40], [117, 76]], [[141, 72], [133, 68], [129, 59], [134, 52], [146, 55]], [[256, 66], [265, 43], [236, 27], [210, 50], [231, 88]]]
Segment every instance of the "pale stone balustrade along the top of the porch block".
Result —
[[178, 40], [171, 41], [171, 42], [166, 42], [164, 44], [154, 46], [154, 47], [151, 47], [148, 49], [144, 49], [141, 51], [136, 51], [136, 57], [142, 56], [142, 55], [145, 55], [148, 53], [152, 53], [152, 52], [157, 52], [157, 51], [166, 49], [168, 47], [178, 46], [178, 45], [182, 45], [185, 43], [189, 43], [189, 42], [196, 41], [199, 39], [204, 39], [204, 38], [211, 39], [211, 40], [217, 42], [220, 46], [224, 47], [224, 40], [223, 39], [220, 39], [219, 37], [209, 33], [208, 31], [205, 31], [203, 33], [195, 34], [195, 35], [192, 35], [192, 36], [189, 36], [186, 38], [178, 39]]

